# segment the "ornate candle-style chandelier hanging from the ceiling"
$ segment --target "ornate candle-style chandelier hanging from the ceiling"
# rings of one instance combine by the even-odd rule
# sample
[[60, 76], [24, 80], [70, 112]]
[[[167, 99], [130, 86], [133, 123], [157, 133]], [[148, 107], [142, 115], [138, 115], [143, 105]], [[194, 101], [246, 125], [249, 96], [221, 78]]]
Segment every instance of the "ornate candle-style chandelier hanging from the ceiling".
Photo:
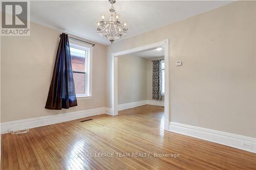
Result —
[[[104, 21], [105, 16], [101, 16], [101, 21], [98, 22], [97, 25], [97, 33], [101, 37], [108, 38], [111, 43], [115, 41], [115, 39], [122, 38], [127, 33], [126, 22], [123, 24], [118, 20], [118, 15], [116, 14], [115, 8], [113, 4], [115, 4], [116, 0], [109, 0], [111, 7], [111, 17], [108, 21]], [[116, 20], [115, 20], [116, 18]]]

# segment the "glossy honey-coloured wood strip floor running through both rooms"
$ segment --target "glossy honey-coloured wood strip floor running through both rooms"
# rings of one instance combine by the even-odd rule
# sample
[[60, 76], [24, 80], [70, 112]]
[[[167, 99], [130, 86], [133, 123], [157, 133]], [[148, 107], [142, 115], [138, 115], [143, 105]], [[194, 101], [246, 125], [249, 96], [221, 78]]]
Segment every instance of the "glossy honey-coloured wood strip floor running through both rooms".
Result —
[[256, 169], [256, 154], [163, 131], [163, 107], [90, 118], [2, 135], [1, 169]]

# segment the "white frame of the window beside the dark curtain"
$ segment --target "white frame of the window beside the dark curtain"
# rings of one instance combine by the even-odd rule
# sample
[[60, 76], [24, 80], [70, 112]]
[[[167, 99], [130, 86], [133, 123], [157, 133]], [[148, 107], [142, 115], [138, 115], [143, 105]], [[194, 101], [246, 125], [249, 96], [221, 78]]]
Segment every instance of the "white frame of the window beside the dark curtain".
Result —
[[92, 57], [93, 57], [93, 46], [86, 44], [84, 42], [80, 42], [77, 40], [69, 39], [69, 46], [78, 48], [80, 50], [86, 51], [86, 69], [83, 71], [73, 70], [72, 72], [80, 72], [84, 73], [84, 94], [76, 94], [77, 100], [85, 100], [85, 99], [92, 99]]

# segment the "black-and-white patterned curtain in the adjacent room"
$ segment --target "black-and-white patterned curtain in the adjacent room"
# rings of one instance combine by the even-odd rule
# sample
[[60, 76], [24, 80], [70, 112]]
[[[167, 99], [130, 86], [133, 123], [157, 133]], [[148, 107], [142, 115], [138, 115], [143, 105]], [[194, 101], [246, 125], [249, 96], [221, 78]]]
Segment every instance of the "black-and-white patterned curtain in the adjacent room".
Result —
[[162, 74], [160, 60], [153, 61], [152, 99], [162, 100]]

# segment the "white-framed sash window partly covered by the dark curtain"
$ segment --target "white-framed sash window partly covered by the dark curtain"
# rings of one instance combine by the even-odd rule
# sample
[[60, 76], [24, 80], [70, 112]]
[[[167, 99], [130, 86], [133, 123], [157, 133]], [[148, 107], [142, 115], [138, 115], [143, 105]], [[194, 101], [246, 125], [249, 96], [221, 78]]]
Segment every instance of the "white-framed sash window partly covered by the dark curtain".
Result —
[[75, 92], [80, 97], [92, 96], [91, 86], [91, 48], [80, 42], [70, 41], [70, 54]]

